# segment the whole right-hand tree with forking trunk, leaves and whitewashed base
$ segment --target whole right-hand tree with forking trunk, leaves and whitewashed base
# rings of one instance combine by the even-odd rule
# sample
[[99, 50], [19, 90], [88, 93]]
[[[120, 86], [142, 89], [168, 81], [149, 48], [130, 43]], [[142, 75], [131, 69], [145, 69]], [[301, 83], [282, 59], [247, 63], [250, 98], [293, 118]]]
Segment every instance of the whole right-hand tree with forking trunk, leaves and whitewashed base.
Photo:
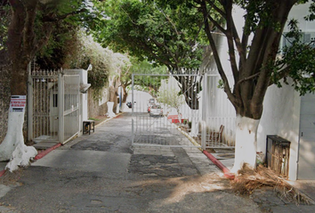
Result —
[[[308, 43], [299, 43], [299, 33], [294, 24], [296, 22], [290, 22], [292, 30], [287, 35], [295, 42], [284, 50], [281, 58], [277, 57], [288, 13], [295, 4], [306, 2], [309, 1], [196, 1], [195, 5], [205, 19], [204, 29], [222, 77], [223, 89], [237, 114], [234, 171], [239, 170], [244, 162], [255, 167], [256, 133], [268, 87], [274, 83], [279, 84], [280, 79], [290, 76], [294, 79], [295, 89], [302, 94], [307, 90], [314, 91], [314, 79], [303, 75], [312, 75], [315, 52]], [[245, 12], [241, 34], [237, 30], [238, 23], [232, 16], [233, 8], [236, 7]], [[216, 21], [217, 15], [221, 17], [220, 20], [224, 20], [225, 25]], [[226, 38], [233, 85], [227, 77], [230, 70], [222, 66], [212, 26]]]

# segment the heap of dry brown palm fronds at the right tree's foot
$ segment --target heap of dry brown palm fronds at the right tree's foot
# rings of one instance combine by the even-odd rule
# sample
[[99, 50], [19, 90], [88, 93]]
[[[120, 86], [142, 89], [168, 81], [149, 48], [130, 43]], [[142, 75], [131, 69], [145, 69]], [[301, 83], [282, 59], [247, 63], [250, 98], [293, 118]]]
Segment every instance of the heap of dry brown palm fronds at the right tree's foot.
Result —
[[233, 188], [238, 193], [251, 194], [262, 186], [272, 186], [281, 198], [299, 204], [310, 204], [312, 200], [300, 193], [294, 186], [289, 185], [285, 178], [279, 177], [274, 171], [259, 165], [256, 170], [251, 170], [246, 164], [238, 171], [238, 177], [233, 182]]

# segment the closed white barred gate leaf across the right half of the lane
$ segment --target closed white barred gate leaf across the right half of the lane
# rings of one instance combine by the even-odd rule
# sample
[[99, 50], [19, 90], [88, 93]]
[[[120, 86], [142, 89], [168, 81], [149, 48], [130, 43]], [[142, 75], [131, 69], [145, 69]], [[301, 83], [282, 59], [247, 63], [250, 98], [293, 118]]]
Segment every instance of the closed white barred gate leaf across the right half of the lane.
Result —
[[194, 146], [185, 135], [198, 129], [201, 79], [194, 74], [133, 74], [133, 146]]

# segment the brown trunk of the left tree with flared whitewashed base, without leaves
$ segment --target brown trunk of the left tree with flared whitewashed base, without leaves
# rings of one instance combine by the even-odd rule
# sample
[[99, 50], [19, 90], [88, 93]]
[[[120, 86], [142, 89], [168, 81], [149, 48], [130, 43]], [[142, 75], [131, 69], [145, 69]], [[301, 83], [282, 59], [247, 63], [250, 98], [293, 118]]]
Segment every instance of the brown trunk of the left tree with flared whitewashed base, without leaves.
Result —
[[[10, 0], [10, 4], [12, 6], [12, 20], [8, 28], [7, 52], [5, 52], [7, 54], [6, 63], [11, 75], [10, 89], [12, 96], [25, 96], [27, 94], [28, 62], [35, 56], [36, 51], [44, 45], [44, 41], [47, 42], [52, 29], [44, 30], [47, 36], [41, 42], [35, 43], [34, 23], [38, 1]], [[0, 145], [0, 161], [10, 160], [6, 168], [11, 171], [17, 170], [19, 166], [28, 165], [29, 159], [37, 154], [34, 147], [24, 144], [22, 128], [24, 114], [25, 109], [22, 112], [10, 110], [8, 130]]]

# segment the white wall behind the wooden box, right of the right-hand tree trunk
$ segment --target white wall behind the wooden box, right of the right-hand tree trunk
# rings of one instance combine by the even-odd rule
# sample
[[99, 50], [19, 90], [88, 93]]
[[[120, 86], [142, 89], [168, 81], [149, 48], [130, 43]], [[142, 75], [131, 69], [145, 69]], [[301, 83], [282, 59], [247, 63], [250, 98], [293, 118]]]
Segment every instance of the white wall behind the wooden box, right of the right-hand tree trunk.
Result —
[[263, 101], [263, 115], [258, 127], [257, 151], [266, 153], [267, 135], [278, 135], [291, 142], [289, 179], [296, 179], [300, 125], [300, 96], [290, 85], [281, 89], [272, 85]]

